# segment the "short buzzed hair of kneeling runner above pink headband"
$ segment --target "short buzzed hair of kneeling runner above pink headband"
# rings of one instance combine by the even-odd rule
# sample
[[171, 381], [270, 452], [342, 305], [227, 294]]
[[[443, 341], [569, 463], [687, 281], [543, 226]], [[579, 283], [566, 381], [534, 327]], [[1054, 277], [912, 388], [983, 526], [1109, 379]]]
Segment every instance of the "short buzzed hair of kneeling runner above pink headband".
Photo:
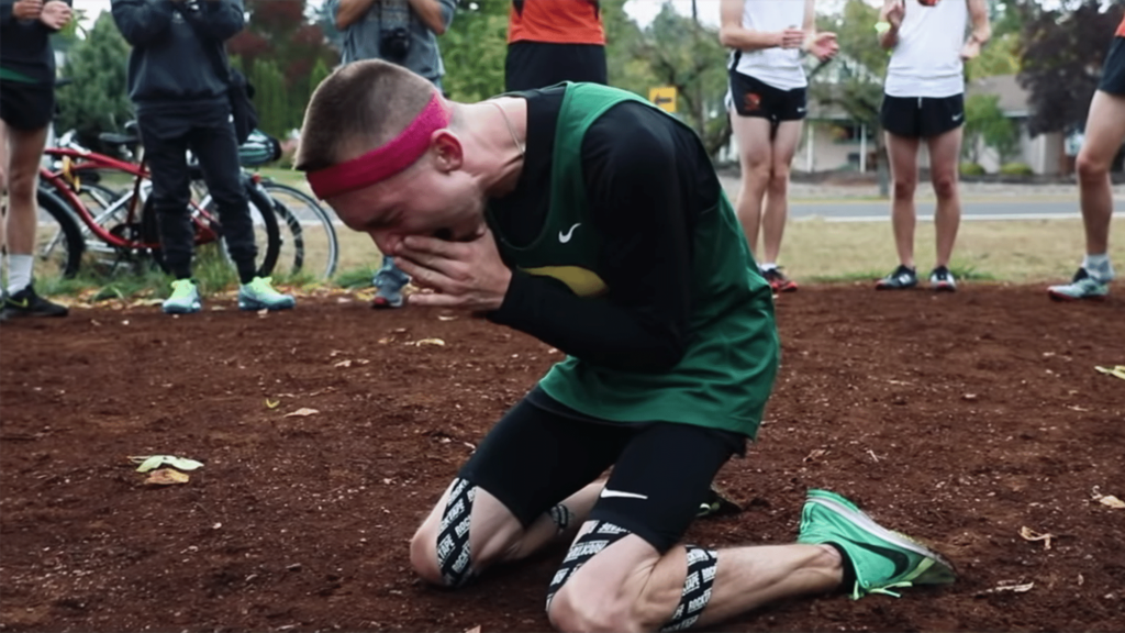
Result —
[[316, 171], [387, 143], [406, 130], [435, 90], [422, 77], [381, 60], [336, 69], [308, 101], [294, 166]]

